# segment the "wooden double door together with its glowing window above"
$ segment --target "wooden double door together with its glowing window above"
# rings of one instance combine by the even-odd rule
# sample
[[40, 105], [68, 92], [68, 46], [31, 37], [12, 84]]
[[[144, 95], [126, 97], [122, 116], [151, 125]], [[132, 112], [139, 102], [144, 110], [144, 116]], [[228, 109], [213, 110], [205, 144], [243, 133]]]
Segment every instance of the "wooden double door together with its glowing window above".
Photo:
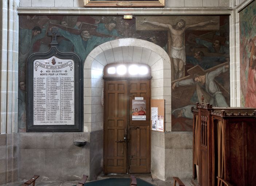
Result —
[[105, 66], [105, 173], [150, 173], [151, 78], [146, 64]]

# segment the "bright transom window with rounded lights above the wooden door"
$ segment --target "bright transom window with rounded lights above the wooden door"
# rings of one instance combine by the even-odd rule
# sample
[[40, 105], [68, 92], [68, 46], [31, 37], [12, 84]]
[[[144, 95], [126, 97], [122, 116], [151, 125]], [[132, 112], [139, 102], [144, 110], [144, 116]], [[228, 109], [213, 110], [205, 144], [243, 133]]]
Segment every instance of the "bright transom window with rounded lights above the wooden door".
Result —
[[112, 63], [104, 68], [106, 77], [146, 77], [151, 76], [149, 65], [143, 63]]

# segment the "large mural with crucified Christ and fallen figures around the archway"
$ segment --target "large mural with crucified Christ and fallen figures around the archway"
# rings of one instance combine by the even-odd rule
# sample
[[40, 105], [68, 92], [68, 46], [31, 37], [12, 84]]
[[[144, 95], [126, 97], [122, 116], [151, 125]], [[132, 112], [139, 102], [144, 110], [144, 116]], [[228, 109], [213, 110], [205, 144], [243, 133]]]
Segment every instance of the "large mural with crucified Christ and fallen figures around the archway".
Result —
[[19, 131], [26, 123], [27, 58], [46, 52], [52, 27], [58, 27], [59, 49], [75, 52], [84, 62], [100, 44], [137, 38], [159, 45], [172, 67], [172, 130], [192, 130], [191, 105], [205, 100], [229, 105], [228, 16], [19, 16]]

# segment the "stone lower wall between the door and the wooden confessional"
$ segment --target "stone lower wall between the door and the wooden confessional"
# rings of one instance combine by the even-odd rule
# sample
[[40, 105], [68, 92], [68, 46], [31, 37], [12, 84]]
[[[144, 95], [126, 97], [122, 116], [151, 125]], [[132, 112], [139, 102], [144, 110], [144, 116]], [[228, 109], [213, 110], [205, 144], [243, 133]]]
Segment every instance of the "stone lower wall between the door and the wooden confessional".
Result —
[[170, 181], [192, 178], [192, 132], [151, 133], [151, 174]]

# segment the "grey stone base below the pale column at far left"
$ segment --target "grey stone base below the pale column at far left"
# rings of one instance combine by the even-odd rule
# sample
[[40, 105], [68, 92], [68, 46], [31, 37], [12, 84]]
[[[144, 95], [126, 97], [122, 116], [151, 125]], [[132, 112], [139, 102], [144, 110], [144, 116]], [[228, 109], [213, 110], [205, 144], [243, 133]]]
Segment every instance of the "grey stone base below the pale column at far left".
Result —
[[0, 134], [0, 185], [18, 180], [19, 134]]

